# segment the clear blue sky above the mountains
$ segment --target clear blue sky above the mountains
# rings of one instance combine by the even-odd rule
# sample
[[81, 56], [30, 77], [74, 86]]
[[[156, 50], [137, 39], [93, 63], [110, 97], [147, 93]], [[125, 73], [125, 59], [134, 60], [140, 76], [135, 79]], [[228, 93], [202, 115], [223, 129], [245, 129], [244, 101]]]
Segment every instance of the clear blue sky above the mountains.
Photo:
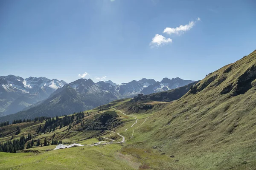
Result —
[[0, 75], [203, 79], [256, 49], [255, 7], [254, 0], [1, 0]]

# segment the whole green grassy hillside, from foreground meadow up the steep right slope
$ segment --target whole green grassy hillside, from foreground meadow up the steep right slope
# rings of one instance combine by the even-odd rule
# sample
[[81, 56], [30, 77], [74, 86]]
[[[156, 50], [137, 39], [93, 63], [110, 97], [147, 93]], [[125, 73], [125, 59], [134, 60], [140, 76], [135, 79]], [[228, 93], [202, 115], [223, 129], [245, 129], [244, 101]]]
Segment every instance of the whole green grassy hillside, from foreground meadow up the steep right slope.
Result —
[[[85, 146], [0, 152], [0, 169], [252, 170], [256, 167], [255, 103], [253, 51], [208, 74], [173, 102], [113, 101], [85, 111], [71, 128], [57, 127], [44, 134], [36, 131], [45, 122], [25, 122], [14, 138], [32, 133], [35, 139], [43, 142], [46, 137], [50, 142], [55, 133], [54, 139], [63, 143]], [[93, 129], [84, 128], [88, 125]], [[4, 132], [0, 141], [10, 140], [15, 127], [0, 127]], [[122, 137], [125, 142], [118, 143]], [[98, 142], [102, 145], [93, 145]]]

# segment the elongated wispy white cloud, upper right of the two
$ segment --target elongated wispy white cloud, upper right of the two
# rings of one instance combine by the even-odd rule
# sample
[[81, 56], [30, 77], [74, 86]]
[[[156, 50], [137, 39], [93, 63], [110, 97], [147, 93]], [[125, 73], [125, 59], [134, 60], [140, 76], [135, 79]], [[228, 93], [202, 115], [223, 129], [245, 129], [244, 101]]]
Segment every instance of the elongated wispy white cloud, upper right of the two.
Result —
[[163, 33], [166, 33], [166, 34], [181, 34], [181, 33], [184, 33], [186, 31], [189, 31], [193, 26], [195, 26], [195, 23], [197, 21], [201, 21], [201, 18], [198, 17], [196, 21], [190, 21], [185, 26], [180, 25], [179, 27], [176, 27], [176, 28], [166, 27], [163, 30]]

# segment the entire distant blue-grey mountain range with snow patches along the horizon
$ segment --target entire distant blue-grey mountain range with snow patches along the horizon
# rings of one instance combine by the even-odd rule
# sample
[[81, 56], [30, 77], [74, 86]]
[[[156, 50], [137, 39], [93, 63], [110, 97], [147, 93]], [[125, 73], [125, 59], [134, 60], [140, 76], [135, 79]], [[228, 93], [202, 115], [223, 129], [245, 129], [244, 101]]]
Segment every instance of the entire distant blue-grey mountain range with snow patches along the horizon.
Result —
[[[143, 78], [120, 85], [112, 81], [95, 83], [91, 79], [78, 79], [67, 84], [45, 77], [23, 79], [9, 75], [0, 79], [1, 115], [5, 116], [0, 121], [70, 114], [95, 108], [113, 99], [167, 91], [192, 82], [177, 77], [164, 78], [161, 82]], [[5, 103], [9, 107], [5, 107]]]

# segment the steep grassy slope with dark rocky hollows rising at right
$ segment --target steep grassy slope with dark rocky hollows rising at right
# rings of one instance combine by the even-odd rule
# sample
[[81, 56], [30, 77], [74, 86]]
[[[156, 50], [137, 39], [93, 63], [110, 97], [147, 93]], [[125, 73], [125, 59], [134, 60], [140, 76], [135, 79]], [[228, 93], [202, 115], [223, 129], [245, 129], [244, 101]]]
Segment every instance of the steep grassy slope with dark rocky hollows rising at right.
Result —
[[[174, 155], [170, 169], [256, 167], [256, 51], [207, 75], [154, 112], [129, 143]], [[150, 112], [150, 111], [148, 111]], [[139, 146], [136, 146], [139, 147]]]

